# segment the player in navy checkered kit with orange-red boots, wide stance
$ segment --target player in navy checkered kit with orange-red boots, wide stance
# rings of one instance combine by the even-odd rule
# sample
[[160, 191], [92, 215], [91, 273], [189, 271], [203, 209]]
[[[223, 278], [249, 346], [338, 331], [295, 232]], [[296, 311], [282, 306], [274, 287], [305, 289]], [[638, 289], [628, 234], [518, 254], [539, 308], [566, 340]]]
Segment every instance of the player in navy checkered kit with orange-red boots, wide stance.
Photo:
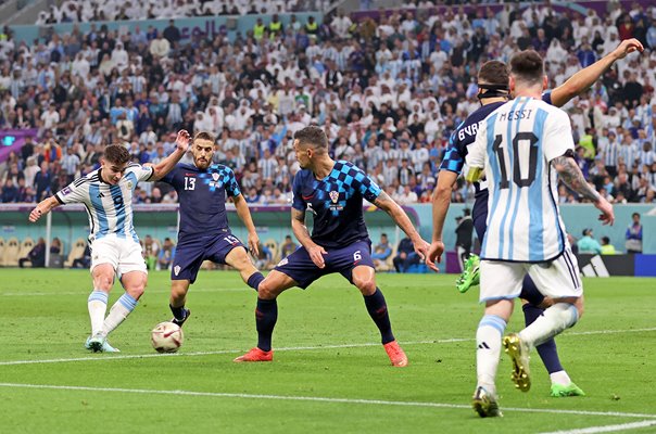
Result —
[[[330, 158], [328, 139], [319, 127], [297, 131], [293, 146], [301, 170], [293, 181], [291, 226], [302, 247], [282, 259], [260, 284], [255, 309], [257, 346], [235, 361], [273, 360], [272, 335], [278, 318], [276, 297], [292, 286], [305, 289], [321, 276], [339, 272], [363, 294], [392, 365], [406, 366], [407, 357], [392, 334], [384, 296], [376, 286], [363, 197], [392, 217], [421, 258], [428, 243], [403, 209], [369, 176], [349, 162]], [[314, 215], [312, 235], [305, 227], [306, 212]]]

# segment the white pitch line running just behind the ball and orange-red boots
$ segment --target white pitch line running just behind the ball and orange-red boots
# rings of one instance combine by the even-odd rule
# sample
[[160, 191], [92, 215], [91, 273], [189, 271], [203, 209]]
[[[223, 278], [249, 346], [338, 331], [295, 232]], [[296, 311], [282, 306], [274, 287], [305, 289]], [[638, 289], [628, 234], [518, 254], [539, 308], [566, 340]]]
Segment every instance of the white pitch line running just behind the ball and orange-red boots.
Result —
[[[654, 332], [656, 328], [649, 329], [631, 329], [631, 330], [592, 330], [588, 332], [566, 333], [564, 336], [588, 336], [593, 334], [618, 334], [618, 333], [642, 333]], [[408, 341], [403, 342], [403, 345], [430, 345], [430, 344], [452, 344], [457, 342], [474, 342], [471, 337], [453, 337], [444, 340], [431, 341]], [[364, 344], [338, 344], [338, 345], [318, 345], [318, 346], [290, 346], [276, 348], [276, 352], [300, 352], [300, 350], [317, 350], [317, 349], [339, 349], [339, 348], [364, 348], [369, 346], [379, 346], [380, 343], [364, 343]], [[35, 363], [65, 363], [71, 361], [108, 361], [108, 360], [126, 360], [126, 359], [146, 359], [152, 357], [193, 357], [193, 356], [213, 356], [220, 354], [242, 353], [244, 349], [219, 349], [216, 352], [194, 352], [194, 353], [175, 353], [175, 354], [131, 354], [131, 355], [97, 355], [87, 357], [73, 357], [60, 359], [41, 359], [41, 360], [8, 360], [0, 361], [0, 366], [11, 365], [35, 365]]]

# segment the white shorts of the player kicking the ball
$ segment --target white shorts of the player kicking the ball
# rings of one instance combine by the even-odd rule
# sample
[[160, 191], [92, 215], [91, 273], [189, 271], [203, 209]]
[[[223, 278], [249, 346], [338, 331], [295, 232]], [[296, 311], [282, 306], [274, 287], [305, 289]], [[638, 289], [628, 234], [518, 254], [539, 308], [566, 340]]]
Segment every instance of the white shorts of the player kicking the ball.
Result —
[[104, 237], [91, 243], [91, 272], [101, 264], [111, 264], [118, 277], [130, 271], [148, 273], [141, 244], [131, 238]]

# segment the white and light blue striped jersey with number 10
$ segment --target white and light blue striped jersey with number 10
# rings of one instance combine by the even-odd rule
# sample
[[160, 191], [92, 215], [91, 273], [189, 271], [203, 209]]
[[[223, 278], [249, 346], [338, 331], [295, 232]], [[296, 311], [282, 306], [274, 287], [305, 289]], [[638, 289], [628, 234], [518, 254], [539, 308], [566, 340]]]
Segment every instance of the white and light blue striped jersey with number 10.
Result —
[[469, 148], [469, 167], [485, 168], [490, 199], [482, 259], [541, 263], [565, 250], [551, 161], [573, 151], [569, 117], [521, 97], [492, 112]]

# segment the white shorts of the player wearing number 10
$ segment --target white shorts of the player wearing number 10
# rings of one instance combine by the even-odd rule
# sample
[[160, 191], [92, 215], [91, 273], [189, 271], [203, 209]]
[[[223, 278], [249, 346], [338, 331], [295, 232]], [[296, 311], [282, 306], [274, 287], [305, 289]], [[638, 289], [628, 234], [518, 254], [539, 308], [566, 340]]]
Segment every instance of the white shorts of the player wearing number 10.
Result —
[[550, 263], [504, 263], [481, 260], [479, 301], [512, 299], [521, 293], [521, 284], [529, 273], [538, 290], [552, 298], [580, 297], [583, 285], [576, 256], [566, 248]]

